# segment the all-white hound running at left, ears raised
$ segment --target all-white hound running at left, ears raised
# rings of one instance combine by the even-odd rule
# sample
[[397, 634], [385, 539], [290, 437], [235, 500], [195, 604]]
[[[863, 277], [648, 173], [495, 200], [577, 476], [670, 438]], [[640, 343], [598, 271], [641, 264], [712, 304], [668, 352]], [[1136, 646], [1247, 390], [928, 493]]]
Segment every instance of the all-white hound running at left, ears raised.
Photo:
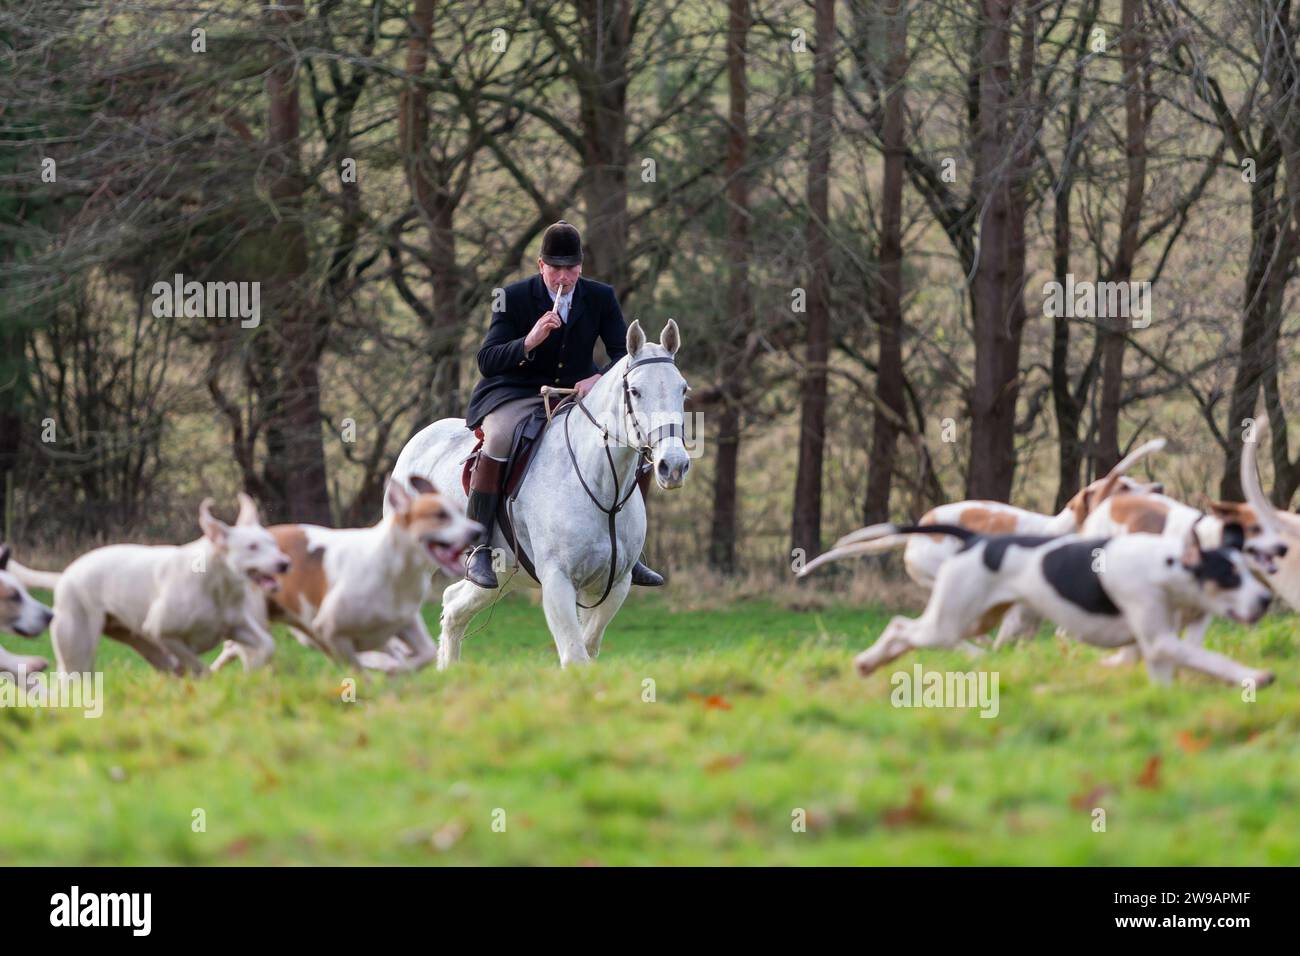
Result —
[[[252, 614], [256, 592], [273, 592], [289, 557], [261, 527], [257, 506], [239, 494], [233, 525], [199, 506], [203, 537], [182, 546], [108, 545], [77, 558], [55, 581], [49, 636], [58, 670], [95, 669], [101, 635], [120, 640], [157, 670], [202, 675], [199, 654], [233, 639], [251, 653], [244, 665], [266, 662], [270, 632]], [[255, 591], [256, 589], [256, 591]]]

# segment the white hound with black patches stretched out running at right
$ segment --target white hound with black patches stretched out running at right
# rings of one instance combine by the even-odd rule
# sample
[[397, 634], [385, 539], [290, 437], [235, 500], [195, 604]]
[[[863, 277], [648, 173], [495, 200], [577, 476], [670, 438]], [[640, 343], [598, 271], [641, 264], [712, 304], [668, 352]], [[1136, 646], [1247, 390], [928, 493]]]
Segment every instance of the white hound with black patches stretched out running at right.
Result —
[[1195, 529], [1182, 542], [1157, 535], [985, 536], [945, 524], [893, 527], [889, 533], [948, 535], [961, 550], [939, 570], [922, 615], [896, 617], [858, 654], [854, 665], [863, 676], [913, 648], [956, 646], [983, 633], [1006, 607], [1024, 604], [1086, 644], [1136, 644], [1157, 683], [1173, 680], [1179, 667], [1230, 684], [1264, 687], [1274, 679], [1178, 637], [1187, 617], [1219, 614], [1251, 624], [1268, 610], [1273, 594], [1240, 551], [1240, 525], [1226, 525], [1223, 545], [1210, 550], [1201, 548]]

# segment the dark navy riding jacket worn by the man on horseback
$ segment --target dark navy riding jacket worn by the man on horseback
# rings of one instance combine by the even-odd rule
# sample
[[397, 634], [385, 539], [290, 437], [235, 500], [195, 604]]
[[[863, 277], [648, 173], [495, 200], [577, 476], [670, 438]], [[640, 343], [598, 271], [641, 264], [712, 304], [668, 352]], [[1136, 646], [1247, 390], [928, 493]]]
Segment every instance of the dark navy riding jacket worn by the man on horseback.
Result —
[[[551, 304], [540, 274], [506, 286], [506, 310], [493, 313], [488, 337], [478, 349], [482, 378], [469, 395], [468, 428], [477, 428], [488, 412], [504, 402], [537, 397], [542, 385], [573, 388], [578, 380], [604, 372], [628, 354], [628, 326], [614, 287], [578, 278], [568, 321], [554, 329], [532, 355], [525, 355], [524, 338]], [[597, 337], [610, 355], [610, 363], [601, 369], [593, 355]]]

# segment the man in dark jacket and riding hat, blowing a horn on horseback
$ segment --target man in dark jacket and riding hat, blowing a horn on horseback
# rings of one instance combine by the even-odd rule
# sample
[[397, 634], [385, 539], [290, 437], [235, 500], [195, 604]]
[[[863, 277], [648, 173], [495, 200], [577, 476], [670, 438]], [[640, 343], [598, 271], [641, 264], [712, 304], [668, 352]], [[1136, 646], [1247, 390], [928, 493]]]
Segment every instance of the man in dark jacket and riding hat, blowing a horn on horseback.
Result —
[[[506, 308], [493, 313], [478, 349], [484, 377], [465, 412], [465, 425], [484, 433], [467, 506], [469, 518], [485, 529], [485, 544], [465, 559], [465, 576], [480, 588], [497, 587], [489, 542], [515, 425], [542, 403], [543, 385], [572, 388], [585, 395], [628, 351], [628, 326], [614, 289], [582, 278], [582, 237], [564, 220], [542, 234], [537, 273], [506, 286]], [[593, 356], [598, 336], [610, 356], [602, 369], [597, 369]], [[649, 477], [642, 473], [637, 479], [642, 496]], [[663, 584], [663, 578], [637, 561], [632, 583], [654, 588]]]

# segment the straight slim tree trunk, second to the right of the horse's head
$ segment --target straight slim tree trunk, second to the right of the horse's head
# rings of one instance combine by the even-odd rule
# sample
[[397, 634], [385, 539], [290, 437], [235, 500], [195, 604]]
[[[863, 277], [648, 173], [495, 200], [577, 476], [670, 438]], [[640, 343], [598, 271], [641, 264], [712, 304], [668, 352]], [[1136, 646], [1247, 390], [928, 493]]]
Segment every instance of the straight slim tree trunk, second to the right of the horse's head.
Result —
[[809, 135], [807, 332], [801, 384], [800, 462], [794, 477], [790, 548], [822, 550], [822, 457], [826, 442], [827, 359], [831, 347], [831, 133], [835, 112], [835, 0], [816, 0], [816, 56]]

